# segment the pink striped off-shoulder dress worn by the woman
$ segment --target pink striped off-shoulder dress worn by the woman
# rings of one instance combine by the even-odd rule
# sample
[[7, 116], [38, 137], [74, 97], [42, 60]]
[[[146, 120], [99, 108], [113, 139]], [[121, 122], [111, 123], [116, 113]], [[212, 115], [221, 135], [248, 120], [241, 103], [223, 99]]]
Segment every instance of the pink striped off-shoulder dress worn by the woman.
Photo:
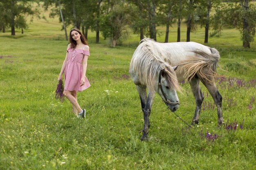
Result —
[[64, 90], [81, 92], [91, 86], [87, 77], [85, 77], [85, 84], [80, 86], [80, 81], [83, 77], [83, 55], [90, 55], [89, 51], [83, 49], [67, 49], [68, 56], [64, 73]]

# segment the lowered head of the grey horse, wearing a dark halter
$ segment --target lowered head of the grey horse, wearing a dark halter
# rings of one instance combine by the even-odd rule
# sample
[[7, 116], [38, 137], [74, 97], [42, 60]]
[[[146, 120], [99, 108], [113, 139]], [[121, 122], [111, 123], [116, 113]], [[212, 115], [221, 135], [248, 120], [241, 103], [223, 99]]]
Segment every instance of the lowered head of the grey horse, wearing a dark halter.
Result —
[[157, 93], [162, 97], [164, 103], [175, 112], [180, 103], [177, 96], [177, 91], [180, 91], [180, 86], [175, 74], [176, 67], [164, 68], [159, 71]]

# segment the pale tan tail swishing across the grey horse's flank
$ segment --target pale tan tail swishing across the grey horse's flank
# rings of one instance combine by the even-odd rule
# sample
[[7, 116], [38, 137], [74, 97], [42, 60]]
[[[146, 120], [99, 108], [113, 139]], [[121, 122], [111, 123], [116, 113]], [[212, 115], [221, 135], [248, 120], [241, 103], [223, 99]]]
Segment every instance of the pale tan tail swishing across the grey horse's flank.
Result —
[[181, 66], [188, 77], [188, 80], [197, 74], [203, 79], [210, 80], [211, 77], [220, 76], [217, 73], [217, 66], [220, 60], [220, 53], [214, 49], [209, 48], [211, 53], [202, 50], [192, 51], [195, 55], [189, 56], [187, 60], [181, 62]]

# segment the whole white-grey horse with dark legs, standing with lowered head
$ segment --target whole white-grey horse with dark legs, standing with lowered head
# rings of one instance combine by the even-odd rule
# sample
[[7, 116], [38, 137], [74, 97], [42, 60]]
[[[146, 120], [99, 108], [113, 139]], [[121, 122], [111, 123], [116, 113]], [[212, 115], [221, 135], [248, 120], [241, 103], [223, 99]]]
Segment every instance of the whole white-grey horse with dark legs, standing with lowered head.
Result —
[[196, 108], [192, 124], [198, 124], [204, 99], [199, 86], [200, 81], [206, 86], [217, 106], [218, 126], [223, 123], [222, 96], [214, 82], [219, 59], [220, 55], [216, 49], [196, 42], [158, 43], [147, 38], [141, 41], [132, 56], [129, 68], [144, 113], [141, 140], [148, 136], [149, 116], [155, 91], [174, 112], [179, 106], [176, 91], [180, 91], [180, 87], [177, 82], [184, 79], [189, 80], [195, 97]]

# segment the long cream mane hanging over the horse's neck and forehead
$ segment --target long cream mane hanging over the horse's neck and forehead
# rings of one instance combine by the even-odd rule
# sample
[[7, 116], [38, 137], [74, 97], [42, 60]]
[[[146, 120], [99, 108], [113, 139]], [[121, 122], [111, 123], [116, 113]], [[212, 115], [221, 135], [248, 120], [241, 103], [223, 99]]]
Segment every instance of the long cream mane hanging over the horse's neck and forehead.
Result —
[[132, 57], [130, 69], [132, 68], [139, 75], [139, 80], [148, 88], [154, 89], [156, 74], [159, 70], [165, 70], [165, 77], [168, 84], [177, 91], [180, 91], [180, 86], [177, 81], [177, 76], [161, 57], [155, 55], [154, 40], [144, 38], [141, 40], [141, 48], [137, 49]]

